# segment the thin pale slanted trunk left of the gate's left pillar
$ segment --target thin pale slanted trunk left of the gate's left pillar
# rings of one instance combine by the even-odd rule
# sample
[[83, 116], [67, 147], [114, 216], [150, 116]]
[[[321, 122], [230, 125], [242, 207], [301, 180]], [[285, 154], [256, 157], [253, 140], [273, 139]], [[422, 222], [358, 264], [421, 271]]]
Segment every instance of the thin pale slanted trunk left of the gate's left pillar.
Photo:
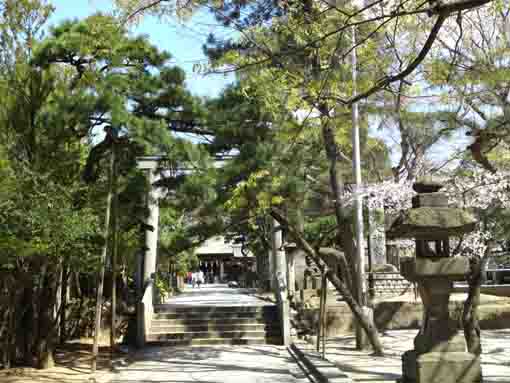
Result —
[[110, 167], [108, 172], [108, 196], [106, 198], [106, 214], [104, 224], [104, 245], [101, 253], [100, 271], [97, 285], [97, 298], [96, 298], [96, 320], [94, 324], [94, 344], [92, 345], [92, 373], [96, 372], [97, 368], [97, 355], [99, 352], [99, 332], [101, 331], [101, 308], [103, 306], [103, 285], [104, 285], [104, 274], [105, 274], [105, 262], [106, 253], [108, 250], [108, 237], [110, 232], [110, 208], [112, 204], [112, 179], [113, 179], [113, 167], [115, 163], [115, 154], [112, 152], [110, 155]]

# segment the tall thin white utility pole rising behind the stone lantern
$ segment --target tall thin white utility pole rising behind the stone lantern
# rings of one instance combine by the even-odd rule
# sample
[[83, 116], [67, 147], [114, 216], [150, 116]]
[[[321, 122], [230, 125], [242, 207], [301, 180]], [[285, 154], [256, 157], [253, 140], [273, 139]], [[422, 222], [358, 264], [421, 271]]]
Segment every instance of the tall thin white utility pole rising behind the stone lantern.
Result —
[[[356, 96], [356, 81], [357, 81], [357, 57], [356, 57], [356, 27], [352, 27], [352, 96]], [[359, 142], [359, 115], [358, 103], [352, 104], [352, 170], [354, 173], [354, 209], [356, 219], [356, 258], [355, 258], [355, 276], [356, 281], [356, 300], [362, 306], [363, 312], [365, 309], [365, 246], [363, 241], [363, 200], [361, 198], [361, 155], [360, 155], [360, 142]], [[364, 341], [364, 333], [361, 326], [356, 326], [356, 348], [362, 349]]]

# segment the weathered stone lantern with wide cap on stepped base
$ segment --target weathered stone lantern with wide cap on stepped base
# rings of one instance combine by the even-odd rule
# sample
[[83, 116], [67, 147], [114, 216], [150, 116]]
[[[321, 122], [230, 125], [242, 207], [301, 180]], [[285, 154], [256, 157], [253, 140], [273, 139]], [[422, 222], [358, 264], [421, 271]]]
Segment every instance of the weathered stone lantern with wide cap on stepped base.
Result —
[[464, 209], [448, 207], [441, 187], [431, 179], [415, 183], [418, 194], [412, 208], [388, 231], [390, 237], [416, 241], [416, 257], [402, 259], [400, 272], [418, 285], [424, 312], [414, 350], [402, 356], [400, 382], [471, 383], [482, 377], [480, 357], [467, 352], [458, 320], [450, 317], [448, 308], [453, 282], [465, 280], [469, 273], [469, 259], [450, 254], [449, 238], [473, 231], [476, 220]]

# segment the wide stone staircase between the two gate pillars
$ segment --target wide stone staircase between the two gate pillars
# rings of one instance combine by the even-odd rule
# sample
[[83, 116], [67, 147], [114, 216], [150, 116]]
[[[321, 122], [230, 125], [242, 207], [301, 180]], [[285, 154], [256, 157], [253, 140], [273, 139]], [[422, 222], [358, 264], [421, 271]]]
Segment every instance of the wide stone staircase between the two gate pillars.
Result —
[[149, 344], [282, 344], [276, 306], [156, 305]]

